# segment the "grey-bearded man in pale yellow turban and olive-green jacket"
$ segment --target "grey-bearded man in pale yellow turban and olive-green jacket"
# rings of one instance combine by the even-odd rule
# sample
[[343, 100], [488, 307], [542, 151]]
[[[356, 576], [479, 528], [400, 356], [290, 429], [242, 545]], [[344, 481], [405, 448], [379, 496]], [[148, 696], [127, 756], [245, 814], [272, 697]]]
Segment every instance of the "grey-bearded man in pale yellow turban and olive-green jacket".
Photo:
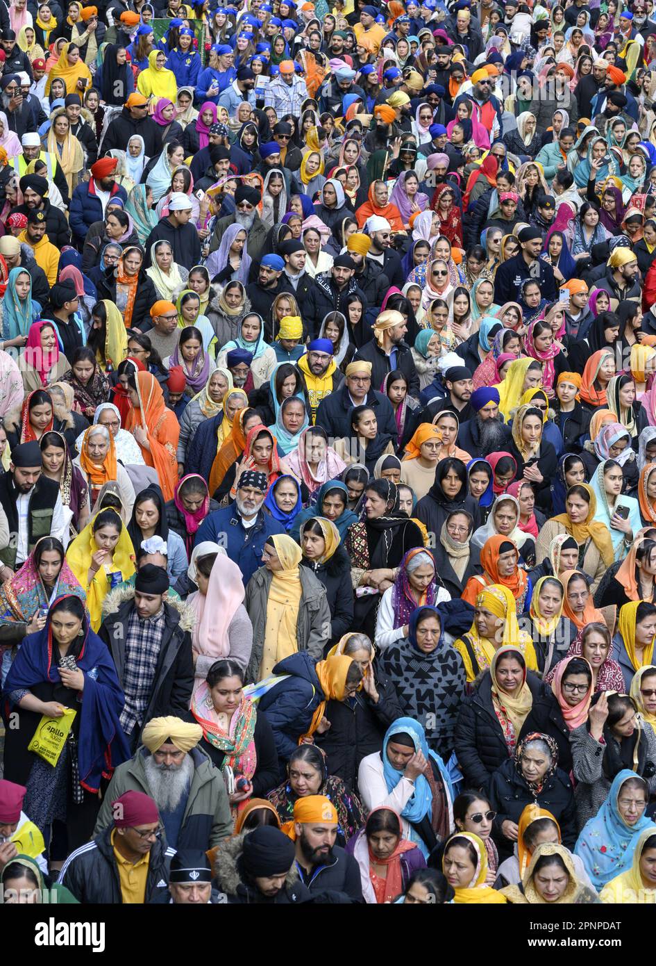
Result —
[[142, 733], [143, 745], [114, 772], [98, 811], [95, 837], [111, 825], [111, 803], [125, 791], [150, 795], [172, 848], [205, 852], [232, 835], [226, 786], [221, 772], [197, 747], [202, 737], [200, 725], [173, 716], [151, 719]]

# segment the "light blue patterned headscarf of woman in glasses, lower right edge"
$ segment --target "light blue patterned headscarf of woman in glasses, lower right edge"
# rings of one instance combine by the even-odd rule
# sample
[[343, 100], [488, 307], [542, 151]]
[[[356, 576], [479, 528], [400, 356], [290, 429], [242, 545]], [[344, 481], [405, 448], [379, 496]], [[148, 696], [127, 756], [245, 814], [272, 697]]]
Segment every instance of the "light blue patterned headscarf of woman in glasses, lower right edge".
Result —
[[[639, 777], [628, 768], [623, 768], [615, 775], [606, 801], [596, 815], [588, 819], [574, 848], [574, 855], [582, 860], [597, 892], [614, 879], [615, 875], [631, 867], [636, 843], [643, 829], [651, 825], [656, 835], [656, 825], [645, 814], [642, 814], [642, 818], [635, 825], [627, 825], [617, 810], [617, 796], [621, 786], [628, 779]], [[648, 800], [646, 781], [644, 795]]]

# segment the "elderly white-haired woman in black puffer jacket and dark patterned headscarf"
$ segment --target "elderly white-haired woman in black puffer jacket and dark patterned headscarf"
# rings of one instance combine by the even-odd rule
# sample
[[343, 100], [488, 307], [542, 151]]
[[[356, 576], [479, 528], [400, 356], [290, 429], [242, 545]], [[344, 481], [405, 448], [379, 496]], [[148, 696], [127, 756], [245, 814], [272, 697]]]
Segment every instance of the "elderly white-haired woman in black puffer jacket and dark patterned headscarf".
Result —
[[494, 773], [488, 785], [493, 810], [494, 839], [499, 858], [512, 854], [519, 819], [527, 805], [550, 811], [560, 825], [562, 844], [572, 849], [576, 842], [576, 813], [572, 783], [558, 767], [558, 748], [550, 735], [533, 731], [517, 746]]

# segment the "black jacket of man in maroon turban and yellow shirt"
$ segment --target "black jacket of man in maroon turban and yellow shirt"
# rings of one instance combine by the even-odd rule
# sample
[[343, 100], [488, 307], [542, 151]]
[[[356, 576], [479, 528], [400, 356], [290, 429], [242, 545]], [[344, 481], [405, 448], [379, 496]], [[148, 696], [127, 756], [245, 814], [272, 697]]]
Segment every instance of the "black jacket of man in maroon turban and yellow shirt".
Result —
[[[68, 856], [60, 872], [59, 882], [66, 886], [82, 905], [121, 905], [121, 879], [111, 842], [113, 826], [81, 845]], [[168, 848], [166, 838], [156, 838], [150, 849], [145, 901], [153, 902], [167, 892], [169, 867], [176, 850]], [[161, 883], [161, 885], [160, 885]]]

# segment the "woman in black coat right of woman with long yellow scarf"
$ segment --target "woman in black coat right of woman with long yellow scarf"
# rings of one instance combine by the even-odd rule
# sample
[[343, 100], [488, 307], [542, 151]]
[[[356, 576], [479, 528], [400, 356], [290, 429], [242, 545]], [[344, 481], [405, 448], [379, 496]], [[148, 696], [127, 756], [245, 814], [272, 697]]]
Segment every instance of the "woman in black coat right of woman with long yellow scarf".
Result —
[[311, 517], [301, 526], [301, 563], [326, 588], [332, 629], [330, 643], [341, 640], [353, 624], [351, 561], [339, 541], [337, 526], [323, 517]]

